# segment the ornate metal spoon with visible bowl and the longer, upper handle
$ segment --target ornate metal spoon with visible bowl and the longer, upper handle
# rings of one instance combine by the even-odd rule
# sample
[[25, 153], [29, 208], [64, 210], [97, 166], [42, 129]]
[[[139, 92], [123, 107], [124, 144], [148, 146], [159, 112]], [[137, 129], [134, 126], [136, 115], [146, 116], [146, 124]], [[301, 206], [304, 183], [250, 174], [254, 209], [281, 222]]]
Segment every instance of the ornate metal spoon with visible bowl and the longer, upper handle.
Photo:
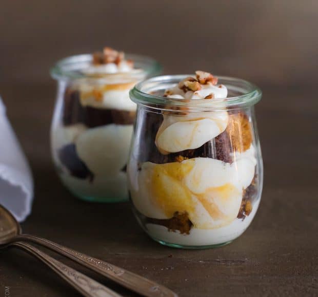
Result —
[[[3, 230], [1, 226], [6, 226]], [[97, 273], [113, 280], [132, 291], [147, 297], [177, 297], [177, 294], [170, 289], [150, 281], [138, 274], [114, 266], [105, 261], [92, 258], [84, 253], [59, 245], [47, 239], [33, 235], [22, 234], [21, 226], [11, 215], [10, 211], [0, 205], [0, 246], [16, 241], [29, 241], [45, 246], [73, 261], [94, 270]], [[55, 260], [56, 261], [56, 260]]]

